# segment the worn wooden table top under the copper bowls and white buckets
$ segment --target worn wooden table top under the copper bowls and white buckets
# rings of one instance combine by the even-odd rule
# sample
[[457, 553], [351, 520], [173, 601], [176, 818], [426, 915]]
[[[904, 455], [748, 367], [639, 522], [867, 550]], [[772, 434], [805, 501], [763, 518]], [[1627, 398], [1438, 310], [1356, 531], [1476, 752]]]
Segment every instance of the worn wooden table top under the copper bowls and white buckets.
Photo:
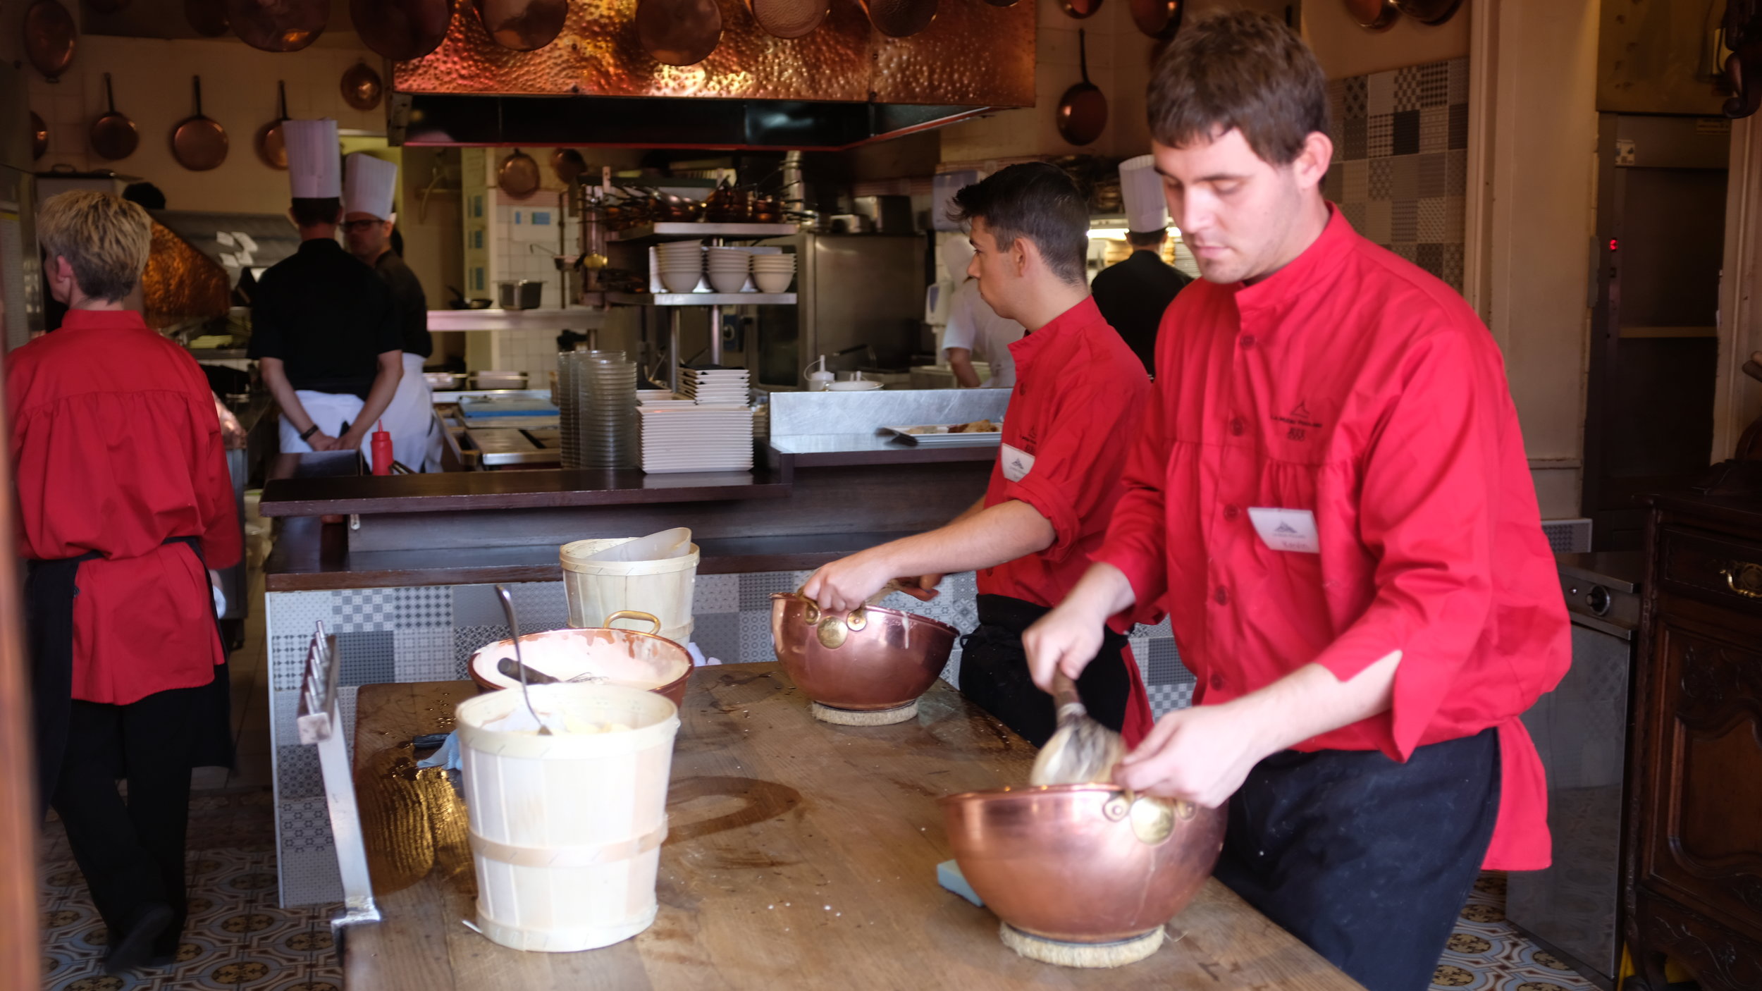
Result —
[[344, 942], [351, 991], [1156, 987], [1353, 991], [1360, 986], [1216, 880], [1179, 940], [1119, 970], [1015, 956], [997, 919], [936, 883], [951, 859], [939, 795], [1020, 785], [1034, 749], [937, 682], [916, 723], [832, 726], [781, 665], [692, 672], [645, 933], [576, 954], [479, 936], [463, 809], [409, 741], [451, 728], [460, 682], [370, 684], [354, 767], [384, 922]]

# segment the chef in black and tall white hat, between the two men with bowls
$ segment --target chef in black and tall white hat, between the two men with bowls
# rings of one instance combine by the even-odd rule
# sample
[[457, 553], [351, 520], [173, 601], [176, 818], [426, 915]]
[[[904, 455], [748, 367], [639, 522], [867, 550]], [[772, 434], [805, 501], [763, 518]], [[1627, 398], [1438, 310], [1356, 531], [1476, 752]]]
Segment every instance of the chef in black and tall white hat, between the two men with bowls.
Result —
[[1156, 330], [1163, 323], [1163, 310], [1193, 279], [1163, 261], [1168, 205], [1163, 201], [1163, 178], [1156, 175], [1151, 155], [1119, 164], [1119, 192], [1126, 205], [1131, 256], [1096, 273], [1089, 291], [1101, 316], [1144, 361], [1144, 370], [1156, 377]]

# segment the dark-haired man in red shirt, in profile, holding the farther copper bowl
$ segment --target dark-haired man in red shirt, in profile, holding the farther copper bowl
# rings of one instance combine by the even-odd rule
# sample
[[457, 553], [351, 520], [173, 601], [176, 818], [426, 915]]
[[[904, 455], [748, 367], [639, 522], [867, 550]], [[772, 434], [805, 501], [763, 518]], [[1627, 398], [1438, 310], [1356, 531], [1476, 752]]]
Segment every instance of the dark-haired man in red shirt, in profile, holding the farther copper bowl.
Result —
[[[980, 296], [1027, 328], [1010, 346], [1017, 377], [990, 487], [951, 524], [833, 561], [802, 592], [842, 612], [897, 575], [918, 577], [922, 598], [944, 573], [976, 568], [980, 626], [960, 654], [960, 691], [1040, 746], [1055, 712], [1029, 677], [1022, 631], [1101, 545], [1151, 381], [1089, 298], [1089, 208], [1070, 176], [1045, 162], [1010, 166], [962, 189], [955, 210], [971, 226]], [[1092, 631], [1101, 663], [1077, 688], [1091, 716], [1136, 741], [1151, 707], [1126, 638], [1103, 621]]]

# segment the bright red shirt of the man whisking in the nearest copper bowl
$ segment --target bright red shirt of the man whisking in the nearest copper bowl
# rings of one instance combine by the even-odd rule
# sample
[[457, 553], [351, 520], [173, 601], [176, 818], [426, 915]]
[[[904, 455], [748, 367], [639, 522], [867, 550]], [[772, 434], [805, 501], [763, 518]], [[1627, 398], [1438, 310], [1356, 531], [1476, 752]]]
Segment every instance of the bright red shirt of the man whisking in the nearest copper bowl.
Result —
[[[1570, 633], [1505, 367], [1475, 312], [1336, 210], [1272, 277], [1182, 291], [1156, 367], [1096, 559], [1168, 610], [1181, 659], [1212, 686], [1196, 702], [1309, 663], [1350, 679], [1401, 651], [1390, 712], [1299, 749], [1404, 760], [1496, 726], [1485, 862], [1545, 868], [1545, 779], [1519, 714], [1566, 672]], [[1320, 552], [1272, 550], [1253, 513], [1219, 511], [1232, 504], [1314, 513]]]

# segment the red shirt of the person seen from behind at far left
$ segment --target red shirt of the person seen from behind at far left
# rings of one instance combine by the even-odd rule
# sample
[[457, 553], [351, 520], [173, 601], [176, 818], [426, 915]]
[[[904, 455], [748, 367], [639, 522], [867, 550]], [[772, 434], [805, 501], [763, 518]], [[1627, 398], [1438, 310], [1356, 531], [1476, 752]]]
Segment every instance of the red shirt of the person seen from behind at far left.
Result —
[[5, 356], [19, 554], [79, 557], [74, 698], [125, 705], [213, 681], [208, 573], [240, 561], [213, 393], [141, 314], [70, 310]]

